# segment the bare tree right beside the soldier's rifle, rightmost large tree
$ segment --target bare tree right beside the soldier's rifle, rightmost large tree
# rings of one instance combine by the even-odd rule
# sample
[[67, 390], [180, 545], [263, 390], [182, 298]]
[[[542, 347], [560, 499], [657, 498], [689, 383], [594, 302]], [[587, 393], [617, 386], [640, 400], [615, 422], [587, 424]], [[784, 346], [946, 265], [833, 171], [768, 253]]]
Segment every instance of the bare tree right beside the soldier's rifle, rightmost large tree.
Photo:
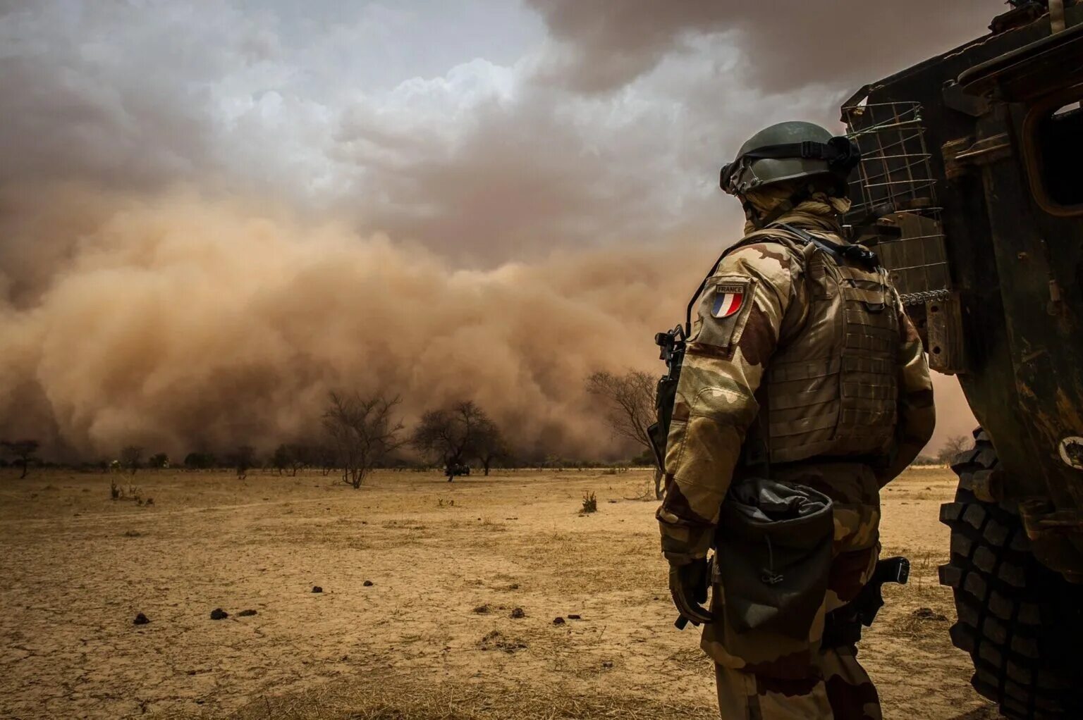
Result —
[[[587, 392], [605, 406], [605, 423], [617, 437], [630, 440], [651, 451], [647, 429], [656, 417], [655, 379], [642, 370], [614, 375], [604, 370], [587, 377]], [[652, 453], [653, 455], [653, 453]], [[654, 470], [654, 497], [662, 498], [662, 469]]]

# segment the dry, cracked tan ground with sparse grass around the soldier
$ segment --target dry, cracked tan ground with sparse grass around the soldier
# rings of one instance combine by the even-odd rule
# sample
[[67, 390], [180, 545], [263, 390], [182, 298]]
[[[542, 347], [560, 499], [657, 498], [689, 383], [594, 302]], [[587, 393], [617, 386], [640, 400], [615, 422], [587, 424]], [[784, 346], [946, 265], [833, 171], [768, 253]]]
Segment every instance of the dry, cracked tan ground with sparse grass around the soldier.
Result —
[[[628, 499], [644, 472], [389, 472], [360, 490], [140, 472], [153, 506], [110, 500], [109, 479], [0, 476], [0, 717], [715, 715], [697, 633], [673, 627], [655, 503]], [[915, 469], [884, 495], [885, 552], [914, 564], [863, 643], [887, 718], [995, 717], [936, 617], [953, 486]]]

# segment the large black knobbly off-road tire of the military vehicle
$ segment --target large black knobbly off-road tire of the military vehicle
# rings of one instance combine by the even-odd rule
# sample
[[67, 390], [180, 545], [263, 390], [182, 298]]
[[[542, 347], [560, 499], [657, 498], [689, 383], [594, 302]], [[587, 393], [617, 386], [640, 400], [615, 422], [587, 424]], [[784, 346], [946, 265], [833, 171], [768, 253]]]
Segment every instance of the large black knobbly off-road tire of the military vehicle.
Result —
[[984, 502], [973, 488], [1000, 472], [980, 429], [975, 448], [952, 464], [955, 501], [940, 508], [951, 527], [951, 560], [940, 584], [952, 588], [958, 621], [952, 643], [970, 654], [970, 683], [1008, 718], [1083, 718], [1083, 587], [1030, 552], [1018, 509]]

